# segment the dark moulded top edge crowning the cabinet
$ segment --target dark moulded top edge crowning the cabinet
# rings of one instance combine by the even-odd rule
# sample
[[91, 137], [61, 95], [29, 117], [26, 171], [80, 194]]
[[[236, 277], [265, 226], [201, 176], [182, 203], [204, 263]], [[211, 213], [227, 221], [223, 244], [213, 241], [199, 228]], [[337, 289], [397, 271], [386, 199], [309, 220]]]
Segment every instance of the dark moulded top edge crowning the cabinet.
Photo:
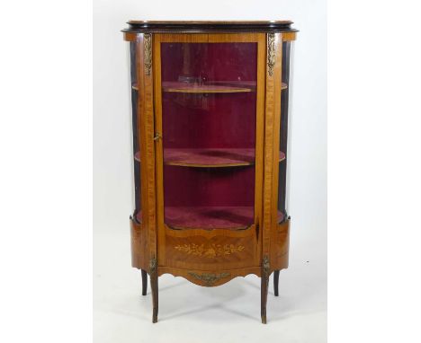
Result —
[[123, 32], [296, 32], [291, 21], [130, 21]]

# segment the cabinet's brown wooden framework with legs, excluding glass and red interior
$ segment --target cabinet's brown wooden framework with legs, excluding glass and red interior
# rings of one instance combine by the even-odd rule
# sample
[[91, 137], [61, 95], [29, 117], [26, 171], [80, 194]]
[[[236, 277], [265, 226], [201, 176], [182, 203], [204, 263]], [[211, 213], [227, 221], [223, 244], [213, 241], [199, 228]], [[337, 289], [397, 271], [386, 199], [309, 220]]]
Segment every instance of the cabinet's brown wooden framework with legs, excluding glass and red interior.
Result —
[[[247, 31], [246, 27], [255, 31]], [[269, 277], [274, 271], [277, 295], [279, 270], [288, 267], [290, 218], [283, 216], [279, 223], [277, 210], [278, 167], [285, 159], [284, 155], [280, 158], [279, 128], [281, 92], [288, 87], [281, 82], [282, 42], [295, 40], [296, 31], [291, 29], [291, 22], [130, 22], [124, 39], [136, 43], [137, 84], [132, 87], [138, 91], [139, 104], [136, 129], [140, 133], [140, 152], [136, 160], [141, 170], [142, 213], [140, 222], [136, 213], [130, 217], [132, 265], [142, 269], [143, 295], [147, 273], [150, 276], [153, 322], [157, 321], [157, 277], [169, 273], [200, 286], [219, 286], [248, 274], [261, 277], [261, 316], [265, 323]], [[255, 165], [254, 224], [246, 230], [174, 230], [165, 223], [162, 92], [179, 90], [176, 87], [164, 89], [161, 84], [161, 43], [164, 42], [257, 44], [255, 163], [219, 165]], [[238, 86], [222, 91], [217, 87], [193, 92], [249, 90]]]

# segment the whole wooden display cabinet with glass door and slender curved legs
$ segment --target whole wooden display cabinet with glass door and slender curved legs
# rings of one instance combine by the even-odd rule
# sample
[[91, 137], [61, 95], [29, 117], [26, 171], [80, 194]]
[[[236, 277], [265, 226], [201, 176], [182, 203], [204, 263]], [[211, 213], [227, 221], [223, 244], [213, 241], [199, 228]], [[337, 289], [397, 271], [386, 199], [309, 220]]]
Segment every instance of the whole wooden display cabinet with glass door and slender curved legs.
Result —
[[288, 267], [291, 22], [129, 22], [132, 266], [199, 286]]

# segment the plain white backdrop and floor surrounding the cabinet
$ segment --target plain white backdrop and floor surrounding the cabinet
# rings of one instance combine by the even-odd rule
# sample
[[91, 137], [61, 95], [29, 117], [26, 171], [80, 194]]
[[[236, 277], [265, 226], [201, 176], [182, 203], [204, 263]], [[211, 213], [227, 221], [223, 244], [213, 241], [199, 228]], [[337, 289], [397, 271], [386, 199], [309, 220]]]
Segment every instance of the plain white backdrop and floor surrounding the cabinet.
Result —
[[[212, 289], [196, 287], [179, 278], [161, 277], [159, 321], [154, 326], [149, 324], [150, 295], [139, 300], [139, 271], [130, 268], [129, 64], [127, 43], [120, 31], [131, 19], [288, 19], [300, 30], [294, 47], [291, 92], [290, 268], [281, 273], [280, 297], [269, 296], [266, 327], [259, 324], [260, 292], [255, 277], [236, 279]], [[326, 340], [326, 35], [324, 0], [94, 1], [95, 341], [164, 341], [166, 332], [173, 334], [174, 342], [177, 332], [186, 341], [184, 324], [193, 330], [188, 324], [194, 322], [200, 334], [201, 325], [209, 326], [215, 318], [224, 318], [223, 322], [216, 320], [219, 332], [210, 331], [200, 341], [221, 337], [225, 340], [220, 341], [246, 341], [235, 335], [228, 323], [242, 328], [239, 330], [248, 330], [252, 324], [254, 329], [246, 334], [250, 341], [253, 335], [257, 335], [255, 339], [262, 337], [258, 336], [260, 333], [269, 335], [265, 336], [268, 338], [276, 334], [286, 341]], [[169, 293], [177, 298], [168, 295], [166, 298], [163, 289], [175, 286]], [[242, 297], [237, 303], [235, 300], [228, 303], [238, 294]], [[202, 307], [192, 309], [192, 299]], [[253, 308], [244, 307], [245, 301], [253, 304]], [[194, 338], [198, 341], [197, 336], [193, 335]]]

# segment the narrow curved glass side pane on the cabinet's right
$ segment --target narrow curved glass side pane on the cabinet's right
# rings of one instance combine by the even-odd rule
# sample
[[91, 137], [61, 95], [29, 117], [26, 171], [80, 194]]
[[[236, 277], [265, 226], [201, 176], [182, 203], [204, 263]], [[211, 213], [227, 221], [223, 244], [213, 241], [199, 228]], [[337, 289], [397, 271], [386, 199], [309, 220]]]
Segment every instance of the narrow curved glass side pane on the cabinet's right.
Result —
[[282, 43], [282, 93], [281, 93], [281, 127], [280, 127], [280, 163], [279, 163], [279, 186], [278, 186], [278, 210], [282, 213], [280, 219], [288, 215], [288, 157], [289, 157], [289, 99], [291, 92], [290, 82], [290, 60], [291, 60], [291, 42]]

